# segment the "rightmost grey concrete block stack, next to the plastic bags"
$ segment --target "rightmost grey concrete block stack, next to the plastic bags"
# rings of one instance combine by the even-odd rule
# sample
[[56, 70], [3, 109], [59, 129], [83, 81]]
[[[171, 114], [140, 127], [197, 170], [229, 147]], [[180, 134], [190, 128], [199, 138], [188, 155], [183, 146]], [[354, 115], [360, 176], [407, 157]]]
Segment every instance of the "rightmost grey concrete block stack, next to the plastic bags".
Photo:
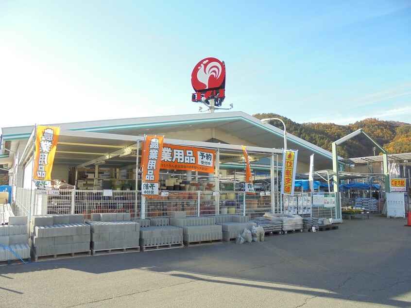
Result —
[[223, 230], [223, 240], [235, 240], [238, 234], [242, 234], [244, 229], [251, 230], [257, 226], [256, 222], [250, 222], [248, 216], [241, 215], [221, 215], [211, 216], [217, 224], [221, 224]]

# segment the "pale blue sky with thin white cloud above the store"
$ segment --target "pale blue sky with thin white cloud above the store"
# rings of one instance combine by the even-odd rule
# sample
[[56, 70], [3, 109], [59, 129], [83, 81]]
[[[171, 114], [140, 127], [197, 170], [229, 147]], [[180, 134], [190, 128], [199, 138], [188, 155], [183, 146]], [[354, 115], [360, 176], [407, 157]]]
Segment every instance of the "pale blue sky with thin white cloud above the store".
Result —
[[2, 0], [0, 127], [197, 113], [206, 57], [233, 111], [411, 122], [410, 0]]

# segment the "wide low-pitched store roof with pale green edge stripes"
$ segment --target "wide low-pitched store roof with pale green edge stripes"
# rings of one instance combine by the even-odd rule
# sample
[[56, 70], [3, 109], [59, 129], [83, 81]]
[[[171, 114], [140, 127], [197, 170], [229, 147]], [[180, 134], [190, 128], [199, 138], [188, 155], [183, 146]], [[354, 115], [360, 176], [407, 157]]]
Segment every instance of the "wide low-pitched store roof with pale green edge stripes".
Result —
[[[136, 148], [137, 140], [144, 135], [165, 136], [165, 142], [198, 147], [219, 147], [222, 158], [235, 156], [241, 150], [238, 142], [244, 142], [249, 155], [259, 153], [269, 156], [281, 153], [284, 144], [283, 130], [263, 124], [243, 112], [221, 112], [191, 114], [167, 117], [147, 117], [117, 120], [98, 120], [45, 125], [60, 126], [56, 160], [73, 166], [90, 162], [105, 161], [112, 168], [120, 164], [133, 164], [136, 159], [127, 154]], [[2, 128], [2, 143], [10, 151], [2, 150], [0, 164], [12, 164], [13, 152], [19, 140], [29, 139], [34, 126]], [[210, 138], [212, 136], [212, 138]], [[229, 138], [238, 140], [226, 144]], [[287, 134], [288, 147], [299, 150], [298, 160], [309, 162], [309, 156], [316, 154], [315, 168], [326, 169], [332, 165], [332, 154], [308, 141]], [[234, 145], [234, 143], [236, 143]], [[28, 145], [31, 143], [28, 142]], [[28, 159], [30, 146], [26, 147], [23, 159]], [[261, 155], [262, 154], [262, 155]], [[128, 157], [126, 157], [128, 156]], [[109, 167], [109, 165], [105, 165]]]

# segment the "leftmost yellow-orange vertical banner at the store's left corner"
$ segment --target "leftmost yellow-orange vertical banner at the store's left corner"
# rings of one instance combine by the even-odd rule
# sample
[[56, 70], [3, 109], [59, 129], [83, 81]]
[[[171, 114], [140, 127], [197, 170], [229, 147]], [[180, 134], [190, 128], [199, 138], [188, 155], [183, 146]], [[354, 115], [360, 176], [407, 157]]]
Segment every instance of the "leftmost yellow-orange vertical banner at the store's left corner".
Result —
[[33, 182], [36, 188], [51, 188], [51, 170], [60, 127], [38, 125], [35, 132]]

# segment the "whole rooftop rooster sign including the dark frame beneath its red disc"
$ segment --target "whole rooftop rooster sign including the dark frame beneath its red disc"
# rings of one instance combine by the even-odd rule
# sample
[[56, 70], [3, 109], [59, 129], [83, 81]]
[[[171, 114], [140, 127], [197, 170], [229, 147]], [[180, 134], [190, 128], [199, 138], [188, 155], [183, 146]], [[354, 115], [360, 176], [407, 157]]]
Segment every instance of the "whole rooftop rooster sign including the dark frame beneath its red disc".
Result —
[[205, 58], [194, 67], [191, 73], [191, 85], [196, 91], [191, 95], [192, 102], [208, 103], [214, 99], [216, 106], [221, 106], [225, 98], [225, 65], [216, 58]]

